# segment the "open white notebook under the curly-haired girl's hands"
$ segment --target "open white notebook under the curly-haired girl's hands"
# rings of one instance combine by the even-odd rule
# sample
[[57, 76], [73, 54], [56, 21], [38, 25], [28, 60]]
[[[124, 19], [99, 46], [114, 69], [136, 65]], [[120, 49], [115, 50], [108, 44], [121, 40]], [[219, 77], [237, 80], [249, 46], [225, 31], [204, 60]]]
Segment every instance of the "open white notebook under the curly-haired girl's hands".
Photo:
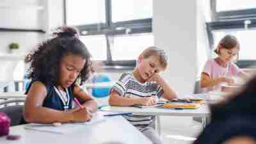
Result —
[[83, 129], [83, 125], [92, 125], [97, 124], [99, 122], [104, 122], [106, 118], [102, 115], [102, 113], [96, 113], [93, 115], [92, 120], [89, 122], [83, 123], [66, 123], [61, 124], [60, 126], [56, 127], [52, 124], [27, 124], [25, 125], [24, 129], [32, 130], [32, 131], [42, 131], [42, 132], [52, 132], [56, 134], [68, 134], [74, 131], [78, 131], [79, 129]]

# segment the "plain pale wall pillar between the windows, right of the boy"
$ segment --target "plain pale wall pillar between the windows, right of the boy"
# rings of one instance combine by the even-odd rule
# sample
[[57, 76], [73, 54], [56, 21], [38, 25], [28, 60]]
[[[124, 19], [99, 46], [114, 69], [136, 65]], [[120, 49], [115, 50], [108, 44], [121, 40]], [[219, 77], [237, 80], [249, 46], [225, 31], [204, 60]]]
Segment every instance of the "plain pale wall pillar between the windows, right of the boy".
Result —
[[169, 56], [168, 68], [162, 76], [180, 96], [193, 92], [198, 49], [208, 47], [204, 20], [198, 20], [203, 13], [198, 13], [197, 8], [196, 0], [153, 1], [154, 42]]

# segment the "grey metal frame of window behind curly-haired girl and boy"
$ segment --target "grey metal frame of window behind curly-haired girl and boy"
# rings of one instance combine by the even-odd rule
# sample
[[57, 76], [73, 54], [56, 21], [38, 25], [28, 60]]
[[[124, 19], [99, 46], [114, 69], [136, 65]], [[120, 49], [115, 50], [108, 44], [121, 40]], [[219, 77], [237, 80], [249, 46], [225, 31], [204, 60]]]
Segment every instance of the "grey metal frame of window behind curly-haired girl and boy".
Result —
[[[67, 0], [64, 0], [64, 23], [67, 24]], [[125, 35], [126, 29], [132, 29], [129, 34], [152, 33], [152, 18], [127, 20], [120, 22], [112, 22], [111, 0], [105, 0], [106, 4], [106, 23], [85, 24], [75, 26], [80, 35], [86, 31], [86, 35], [105, 35], [107, 42], [107, 60], [103, 61], [105, 69], [132, 69], [136, 66], [136, 60], [120, 60], [113, 61], [111, 56], [111, 45], [113, 45], [113, 37]], [[121, 29], [118, 29], [121, 28]], [[122, 29], [123, 28], [123, 29]]]

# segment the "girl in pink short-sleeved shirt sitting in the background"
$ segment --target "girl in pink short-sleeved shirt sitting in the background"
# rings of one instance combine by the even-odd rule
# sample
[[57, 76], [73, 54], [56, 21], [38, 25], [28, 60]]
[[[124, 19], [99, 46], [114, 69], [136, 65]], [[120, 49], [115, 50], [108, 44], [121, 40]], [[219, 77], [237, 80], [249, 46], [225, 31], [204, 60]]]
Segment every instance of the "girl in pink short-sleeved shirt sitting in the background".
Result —
[[205, 63], [200, 86], [204, 92], [220, 90], [223, 83], [234, 83], [233, 76], [246, 77], [246, 74], [232, 62], [238, 60], [240, 45], [232, 35], [224, 36], [214, 52], [218, 56]]

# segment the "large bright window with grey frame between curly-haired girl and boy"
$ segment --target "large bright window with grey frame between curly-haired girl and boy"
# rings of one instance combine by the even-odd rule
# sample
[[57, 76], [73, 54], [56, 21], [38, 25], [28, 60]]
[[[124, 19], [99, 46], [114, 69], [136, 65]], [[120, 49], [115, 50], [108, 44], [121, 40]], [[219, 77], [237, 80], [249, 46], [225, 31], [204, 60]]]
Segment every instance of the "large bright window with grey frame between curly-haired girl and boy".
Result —
[[76, 26], [94, 60], [134, 66], [154, 45], [152, 0], [65, 0], [65, 23]]

